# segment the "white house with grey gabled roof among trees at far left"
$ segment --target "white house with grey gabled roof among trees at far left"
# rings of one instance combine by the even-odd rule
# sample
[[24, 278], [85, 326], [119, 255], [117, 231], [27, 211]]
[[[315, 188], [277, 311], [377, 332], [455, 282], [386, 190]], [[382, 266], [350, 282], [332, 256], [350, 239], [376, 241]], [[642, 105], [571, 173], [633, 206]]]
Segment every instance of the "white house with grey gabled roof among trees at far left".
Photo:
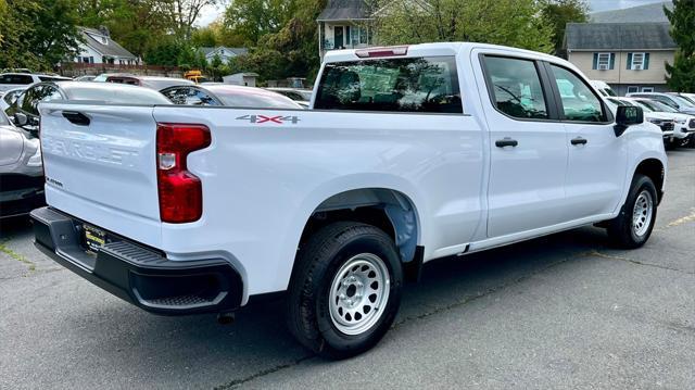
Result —
[[140, 60], [111, 39], [106, 27], [79, 27], [81, 41], [75, 62], [87, 64], [137, 65]]

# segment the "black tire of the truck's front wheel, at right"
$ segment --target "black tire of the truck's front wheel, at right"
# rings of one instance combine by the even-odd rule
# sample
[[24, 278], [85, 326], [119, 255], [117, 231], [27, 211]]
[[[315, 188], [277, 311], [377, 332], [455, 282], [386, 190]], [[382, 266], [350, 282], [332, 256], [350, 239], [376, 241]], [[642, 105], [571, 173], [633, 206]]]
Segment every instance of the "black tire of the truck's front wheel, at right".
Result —
[[[648, 192], [650, 197], [652, 213], [649, 221], [644, 224], [647, 225], [646, 228], [640, 232], [637, 231], [640, 229], [633, 224], [633, 212], [635, 210], [635, 202], [643, 191]], [[621, 207], [620, 214], [608, 224], [608, 237], [610, 241], [615, 246], [624, 249], [640, 248], [647, 242], [654, 229], [654, 223], [656, 222], [657, 203], [658, 198], [654, 181], [647, 176], [641, 174], [634, 175], [626, 204]]]

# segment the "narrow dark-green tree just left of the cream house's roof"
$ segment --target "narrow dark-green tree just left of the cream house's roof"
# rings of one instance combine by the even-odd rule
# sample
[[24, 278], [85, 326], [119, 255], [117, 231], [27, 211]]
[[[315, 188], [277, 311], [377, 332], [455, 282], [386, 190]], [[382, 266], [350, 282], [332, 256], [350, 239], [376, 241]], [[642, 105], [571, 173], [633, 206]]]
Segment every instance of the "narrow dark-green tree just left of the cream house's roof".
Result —
[[556, 55], [563, 54], [567, 24], [586, 22], [587, 13], [589, 5], [584, 0], [542, 0], [541, 16], [553, 28], [553, 47]]

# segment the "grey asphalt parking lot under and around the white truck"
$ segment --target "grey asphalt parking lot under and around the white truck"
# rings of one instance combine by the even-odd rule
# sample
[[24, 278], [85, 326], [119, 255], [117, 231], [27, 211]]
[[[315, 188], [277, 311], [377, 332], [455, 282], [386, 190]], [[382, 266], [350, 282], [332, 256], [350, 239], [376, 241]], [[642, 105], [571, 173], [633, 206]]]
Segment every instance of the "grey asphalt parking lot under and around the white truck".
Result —
[[669, 151], [666, 199], [639, 250], [584, 227], [428, 263], [374, 350], [313, 356], [279, 303], [148, 314], [0, 229], [1, 389], [695, 388], [695, 150]]

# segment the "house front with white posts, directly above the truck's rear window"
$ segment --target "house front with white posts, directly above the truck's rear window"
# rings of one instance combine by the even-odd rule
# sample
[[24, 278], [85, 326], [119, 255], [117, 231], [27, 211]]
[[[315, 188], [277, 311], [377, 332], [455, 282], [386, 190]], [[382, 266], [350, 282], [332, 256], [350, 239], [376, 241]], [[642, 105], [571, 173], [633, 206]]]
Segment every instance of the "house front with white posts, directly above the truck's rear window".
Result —
[[328, 50], [366, 48], [374, 40], [374, 17], [364, 0], [328, 0], [316, 22], [321, 59]]

